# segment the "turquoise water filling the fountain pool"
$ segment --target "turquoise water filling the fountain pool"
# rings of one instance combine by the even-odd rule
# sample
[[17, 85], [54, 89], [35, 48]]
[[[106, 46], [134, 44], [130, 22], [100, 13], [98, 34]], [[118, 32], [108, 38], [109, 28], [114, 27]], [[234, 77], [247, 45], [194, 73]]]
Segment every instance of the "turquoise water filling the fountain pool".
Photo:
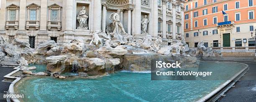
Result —
[[[216, 65], [218, 70], [236, 74], [241, 64], [202, 62]], [[221, 66], [220, 66], [221, 65]], [[196, 101], [225, 81], [151, 81], [149, 73], [119, 71], [97, 79], [55, 79], [33, 77], [21, 80], [16, 94], [24, 94], [24, 102], [131, 102], [131, 101]]]

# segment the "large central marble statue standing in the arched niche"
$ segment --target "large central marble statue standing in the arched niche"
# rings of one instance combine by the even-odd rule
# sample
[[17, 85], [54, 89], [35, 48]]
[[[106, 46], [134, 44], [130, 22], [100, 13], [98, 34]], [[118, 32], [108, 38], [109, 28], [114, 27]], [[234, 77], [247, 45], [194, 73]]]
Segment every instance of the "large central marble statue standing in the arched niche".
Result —
[[117, 33], [118, 35], [120, 34], [118, 27], [121, 28], [124, 34], [126, 33], [123, 28], [123, 24], [120, 21], [120, 11], [121, 10], [117, 10], [117, 13], [112, 13], [109, 17], [109, 19], [113, 21], [113, 25], [115, 26], [113, 33]]

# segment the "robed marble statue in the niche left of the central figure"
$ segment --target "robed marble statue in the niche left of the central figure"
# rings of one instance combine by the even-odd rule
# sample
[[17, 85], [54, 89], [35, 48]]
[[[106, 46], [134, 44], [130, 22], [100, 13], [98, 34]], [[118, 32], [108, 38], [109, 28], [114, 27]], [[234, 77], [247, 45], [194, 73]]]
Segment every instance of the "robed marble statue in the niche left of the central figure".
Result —
[[86, 13], [85, 6], [83, 6], [82, 10], [80, 10], [77, 15], [77, 21], [79, 22], [78, 28], [88, 29], [87, 19], [88, 15]]

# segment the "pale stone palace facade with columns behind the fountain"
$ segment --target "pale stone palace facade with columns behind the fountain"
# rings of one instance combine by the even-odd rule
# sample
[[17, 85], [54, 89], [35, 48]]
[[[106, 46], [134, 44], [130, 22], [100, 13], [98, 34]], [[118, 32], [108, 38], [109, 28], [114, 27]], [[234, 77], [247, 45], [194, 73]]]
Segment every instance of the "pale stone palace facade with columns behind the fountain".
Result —
[[[125, 32], [134, 38], [161, 36], [164, 46], [181, 41], [183, 0], [1, 0], [0, 35], [27, 41], [32, 48], [48, 39], [86, 42], [97, 30], [106, 33], [110, 15], [117, 10]], [[86, 15], [82, 28], [81, 13]], [[146, 26], [141, 24], [145, 17]]]

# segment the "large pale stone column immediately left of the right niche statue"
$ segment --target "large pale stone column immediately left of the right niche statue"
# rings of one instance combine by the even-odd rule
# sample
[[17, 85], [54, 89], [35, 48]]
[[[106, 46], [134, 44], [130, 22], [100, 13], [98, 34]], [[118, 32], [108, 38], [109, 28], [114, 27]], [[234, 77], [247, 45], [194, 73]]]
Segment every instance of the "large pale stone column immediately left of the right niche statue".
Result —
[[141, 37], [141, 0], [135, 0], [135, 9], [134, 9], [134, 15], [136, 16], [134, 18], [134, 38], [140, 38]]

